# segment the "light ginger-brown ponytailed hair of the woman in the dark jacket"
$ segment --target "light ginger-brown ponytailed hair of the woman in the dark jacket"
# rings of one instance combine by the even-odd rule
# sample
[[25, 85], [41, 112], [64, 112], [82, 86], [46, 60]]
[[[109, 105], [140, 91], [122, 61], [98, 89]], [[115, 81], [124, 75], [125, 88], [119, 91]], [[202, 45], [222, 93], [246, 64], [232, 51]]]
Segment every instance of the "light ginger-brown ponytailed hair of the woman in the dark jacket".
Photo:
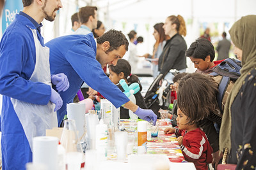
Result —
[[172, 24], [176, 24], [176, 30], [179, 32], [181, 36], [186, 36], [187, 29], [183, 17], [181, 17], [180, 15], [178, 15], [177, 17], [175, 15], [171, 15], [168, 17], [168, 19], [172, 22]]

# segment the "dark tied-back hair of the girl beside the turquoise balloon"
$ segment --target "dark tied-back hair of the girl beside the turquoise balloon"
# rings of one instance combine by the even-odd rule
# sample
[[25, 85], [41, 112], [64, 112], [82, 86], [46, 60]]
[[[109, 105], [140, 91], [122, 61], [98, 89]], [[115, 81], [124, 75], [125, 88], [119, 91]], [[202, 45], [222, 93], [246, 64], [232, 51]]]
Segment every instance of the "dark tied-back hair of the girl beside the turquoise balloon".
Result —
[[116, 66], [110, 65], [108, 67], [116, 74], [120, 74], [121, 72], [123, 72], [124, 78], [127, 79], [129, 83], [139, 83], [140, 90], [142, 90], [140, 80], [138, 76], [136, 76], [135, 74], [131, 74], [131, 65], [127, 60], [119, 59], [116, 63]]

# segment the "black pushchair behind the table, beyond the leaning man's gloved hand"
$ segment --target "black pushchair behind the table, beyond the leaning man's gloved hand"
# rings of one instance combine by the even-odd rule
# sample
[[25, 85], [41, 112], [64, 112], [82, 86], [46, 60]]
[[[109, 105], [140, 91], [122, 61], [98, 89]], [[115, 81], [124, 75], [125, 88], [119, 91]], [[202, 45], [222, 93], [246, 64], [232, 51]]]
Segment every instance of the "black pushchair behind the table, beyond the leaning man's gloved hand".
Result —
[[[178, 71], [172, 72], [174, 75], [178, 74]], [[145, 94], [144, 100], [147, 108], [153, 110], [160, 118], [159, 109], [168, 110], [169, 106], [177, 98], [175, 92], [170, 89], [170, 82], [163, 80], [163, 74], [159, 74]], [[161, 85], [159, 83], [161, 82]], [[164, 82], [166, 82], [164, 84]], [[164, 84], [164, 85], [163, 85]], [[163, 88], [164, 87], [164, 88]]]

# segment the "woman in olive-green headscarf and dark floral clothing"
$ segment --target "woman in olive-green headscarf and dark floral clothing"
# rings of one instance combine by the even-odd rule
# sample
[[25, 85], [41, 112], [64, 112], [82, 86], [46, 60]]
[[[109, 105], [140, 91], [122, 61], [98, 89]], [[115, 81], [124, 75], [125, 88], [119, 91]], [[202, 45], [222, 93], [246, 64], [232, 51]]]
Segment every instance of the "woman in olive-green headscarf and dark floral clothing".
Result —
[[241, 57], [241, 76], [228, 96], [220, 129], [220, 150], [236, 169], [256, 167], [256, 15], [242, 17], [230, 29], [234, 53]]

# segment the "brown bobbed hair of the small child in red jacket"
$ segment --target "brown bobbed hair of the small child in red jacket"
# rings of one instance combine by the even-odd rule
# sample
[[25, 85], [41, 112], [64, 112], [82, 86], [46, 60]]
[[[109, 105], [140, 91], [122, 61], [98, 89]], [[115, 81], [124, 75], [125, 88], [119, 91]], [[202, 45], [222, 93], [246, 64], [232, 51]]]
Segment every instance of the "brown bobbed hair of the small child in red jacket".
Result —
[[218, 83], [209, 74], [189, 73], [179, 82], [177, 104], [189, 118], [188, 124], [200, 122], [218, 110]]

